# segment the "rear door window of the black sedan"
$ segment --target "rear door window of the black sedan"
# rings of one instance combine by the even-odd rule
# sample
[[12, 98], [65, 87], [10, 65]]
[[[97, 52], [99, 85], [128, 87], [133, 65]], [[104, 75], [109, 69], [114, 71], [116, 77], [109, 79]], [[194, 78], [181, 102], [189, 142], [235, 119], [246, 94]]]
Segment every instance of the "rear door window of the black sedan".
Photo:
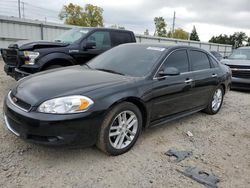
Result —
[[193, 71], [210, 68], [210, 63], [207, 54], [203, 52], [193, 50], [190, 51], [190, 60]]

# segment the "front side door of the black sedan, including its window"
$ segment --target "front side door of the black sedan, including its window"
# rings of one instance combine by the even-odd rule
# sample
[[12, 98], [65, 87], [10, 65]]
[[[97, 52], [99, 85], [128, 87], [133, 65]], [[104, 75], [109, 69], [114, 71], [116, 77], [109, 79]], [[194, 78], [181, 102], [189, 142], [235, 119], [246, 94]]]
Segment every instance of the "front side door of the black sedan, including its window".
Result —
[[193, 74], [189, 71], [187, 50], [173, 51], [159, 71], [165, 66], [175, 67], [181, 73], [165, 77], [156, 74], [153, 82], [152, 121], [193, 108]]

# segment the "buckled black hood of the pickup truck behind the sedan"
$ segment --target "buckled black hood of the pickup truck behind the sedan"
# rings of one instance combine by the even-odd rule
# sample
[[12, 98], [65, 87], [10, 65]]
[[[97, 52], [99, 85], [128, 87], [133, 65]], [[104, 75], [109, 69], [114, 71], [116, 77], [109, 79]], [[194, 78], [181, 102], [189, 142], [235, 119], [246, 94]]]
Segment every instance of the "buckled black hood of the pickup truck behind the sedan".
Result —
[[50, 42], [50, 41], [18, 41], [10, 44], [9, 48], [18, 48], [19, 50], [34, 50], [39, 48], [65, 47], [68, 43]]

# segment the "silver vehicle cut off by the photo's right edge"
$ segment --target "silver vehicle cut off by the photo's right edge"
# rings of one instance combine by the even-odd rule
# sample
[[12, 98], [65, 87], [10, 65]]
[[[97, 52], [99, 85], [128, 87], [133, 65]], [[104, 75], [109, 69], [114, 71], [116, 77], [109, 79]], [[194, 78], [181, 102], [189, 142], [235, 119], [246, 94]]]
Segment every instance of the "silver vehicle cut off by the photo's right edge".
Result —
[[232, 70], [232, 88], [250, 90], [250, 47], [240, 47], [221, 61]]

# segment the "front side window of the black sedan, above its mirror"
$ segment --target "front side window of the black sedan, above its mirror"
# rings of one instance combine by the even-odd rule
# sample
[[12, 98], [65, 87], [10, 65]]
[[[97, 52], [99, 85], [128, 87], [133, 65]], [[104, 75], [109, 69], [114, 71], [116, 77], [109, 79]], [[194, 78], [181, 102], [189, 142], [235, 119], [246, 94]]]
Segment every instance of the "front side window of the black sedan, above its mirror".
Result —
[[186, 50], [173, 52], [166, 60], [165, 66], [175, 67], [180, 72], [188, 72], [188, 56]]

